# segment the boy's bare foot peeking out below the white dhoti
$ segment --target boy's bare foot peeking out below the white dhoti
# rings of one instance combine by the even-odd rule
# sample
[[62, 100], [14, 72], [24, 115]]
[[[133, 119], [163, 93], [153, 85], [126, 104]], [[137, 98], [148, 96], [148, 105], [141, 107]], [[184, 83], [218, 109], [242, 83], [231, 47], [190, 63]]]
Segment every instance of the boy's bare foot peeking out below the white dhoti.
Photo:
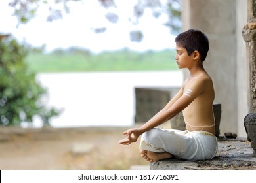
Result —
[[168, 159], [173, 157], [172, 154], [169, 154], [169, 152], [152, 152], [147, 150], [140, 150], [141, 157], [144, 158], [146, 161], [149, 161], [150, 163], [159, 161], [161, 159]]

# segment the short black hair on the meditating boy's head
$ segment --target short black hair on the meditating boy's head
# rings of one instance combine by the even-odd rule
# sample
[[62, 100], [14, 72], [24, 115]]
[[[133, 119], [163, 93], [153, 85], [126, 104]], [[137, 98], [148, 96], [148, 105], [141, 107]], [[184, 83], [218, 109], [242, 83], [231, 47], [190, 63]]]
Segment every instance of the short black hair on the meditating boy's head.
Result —
[[207, 52], [209, 50], [208, 37], [200, 30], [189, 29], [175, 38], [177, 45], [182, 46], [188, 52], [188, 55], [192, 54], [195, 50], [198, 50], [201, 55], [201, 60], [204, 61]]

